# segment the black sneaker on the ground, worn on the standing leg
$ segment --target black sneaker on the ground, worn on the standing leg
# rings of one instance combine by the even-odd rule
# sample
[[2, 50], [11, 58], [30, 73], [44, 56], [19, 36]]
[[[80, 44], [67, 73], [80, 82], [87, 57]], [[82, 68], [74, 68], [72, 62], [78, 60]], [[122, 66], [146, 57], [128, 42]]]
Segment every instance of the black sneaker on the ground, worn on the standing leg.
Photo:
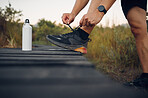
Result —
[[124, 84], [125, 86], [135, 87], [135, 88], [148, 88], [148, 78], [145, 77], [139, 77], [135, 79], [134, 81], [127, 82]]

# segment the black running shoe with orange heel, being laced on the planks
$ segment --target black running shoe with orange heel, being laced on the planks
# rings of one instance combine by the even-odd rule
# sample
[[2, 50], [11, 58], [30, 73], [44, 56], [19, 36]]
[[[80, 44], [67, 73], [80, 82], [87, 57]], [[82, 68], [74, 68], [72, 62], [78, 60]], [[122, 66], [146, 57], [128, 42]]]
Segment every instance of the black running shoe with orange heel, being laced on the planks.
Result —
[[[72, 29], [73, 30], [73, 29]], [[73, 30], [71, 33], [62, 35], [47, 35], [46, 38], [51, 43], [60, 46], [62, 48], [79, 51], [81, 53], [87, 53], [86, 47], [89, 38], [83, 40], [79, 37], [80, 28]]]

